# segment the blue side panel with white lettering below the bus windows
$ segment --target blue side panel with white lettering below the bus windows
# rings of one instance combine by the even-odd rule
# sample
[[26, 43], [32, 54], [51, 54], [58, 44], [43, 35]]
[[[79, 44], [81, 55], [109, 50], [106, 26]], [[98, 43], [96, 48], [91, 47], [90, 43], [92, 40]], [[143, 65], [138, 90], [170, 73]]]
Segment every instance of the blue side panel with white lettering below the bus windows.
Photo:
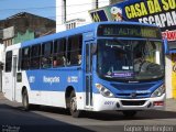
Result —
[[84, 82], [81, 73], [76, 67], [69, 70], [67, 68], [26, 70], [31, 90], [41, 91], [65, 91], [68, 86], [73, 86], [80, 92]]

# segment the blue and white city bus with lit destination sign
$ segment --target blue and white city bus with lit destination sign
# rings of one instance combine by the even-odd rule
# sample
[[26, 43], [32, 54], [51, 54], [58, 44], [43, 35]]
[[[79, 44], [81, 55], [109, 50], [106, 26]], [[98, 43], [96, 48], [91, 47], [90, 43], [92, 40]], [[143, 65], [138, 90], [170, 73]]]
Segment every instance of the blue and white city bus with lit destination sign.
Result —
[[99, 22], [6, 50], [3, 92], [10, 100], [134, 116], [165, 107], [164, 41], [155, 25]]

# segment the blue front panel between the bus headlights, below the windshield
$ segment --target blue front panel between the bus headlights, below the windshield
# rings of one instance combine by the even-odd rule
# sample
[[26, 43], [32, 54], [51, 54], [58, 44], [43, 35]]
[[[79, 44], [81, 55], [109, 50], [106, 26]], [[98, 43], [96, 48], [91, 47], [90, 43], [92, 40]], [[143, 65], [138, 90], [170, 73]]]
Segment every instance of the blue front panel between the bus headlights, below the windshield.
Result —
[[[95, 82], [102, 84], [105, 87], [109, 88], [109, 90], [117, 98], [132, 98], [131, 94], [136, 94], [135, 98], [150, 98], [151, 95], [161, 87], [164, 81], [146, 81], [146, 82], [118, 82], [118, 81], [107, 81], [103, 79], [99, 79], [99, 77], [95, 78]], [[98, 92], [98, 90], [94, 90], [94, 92]]]

